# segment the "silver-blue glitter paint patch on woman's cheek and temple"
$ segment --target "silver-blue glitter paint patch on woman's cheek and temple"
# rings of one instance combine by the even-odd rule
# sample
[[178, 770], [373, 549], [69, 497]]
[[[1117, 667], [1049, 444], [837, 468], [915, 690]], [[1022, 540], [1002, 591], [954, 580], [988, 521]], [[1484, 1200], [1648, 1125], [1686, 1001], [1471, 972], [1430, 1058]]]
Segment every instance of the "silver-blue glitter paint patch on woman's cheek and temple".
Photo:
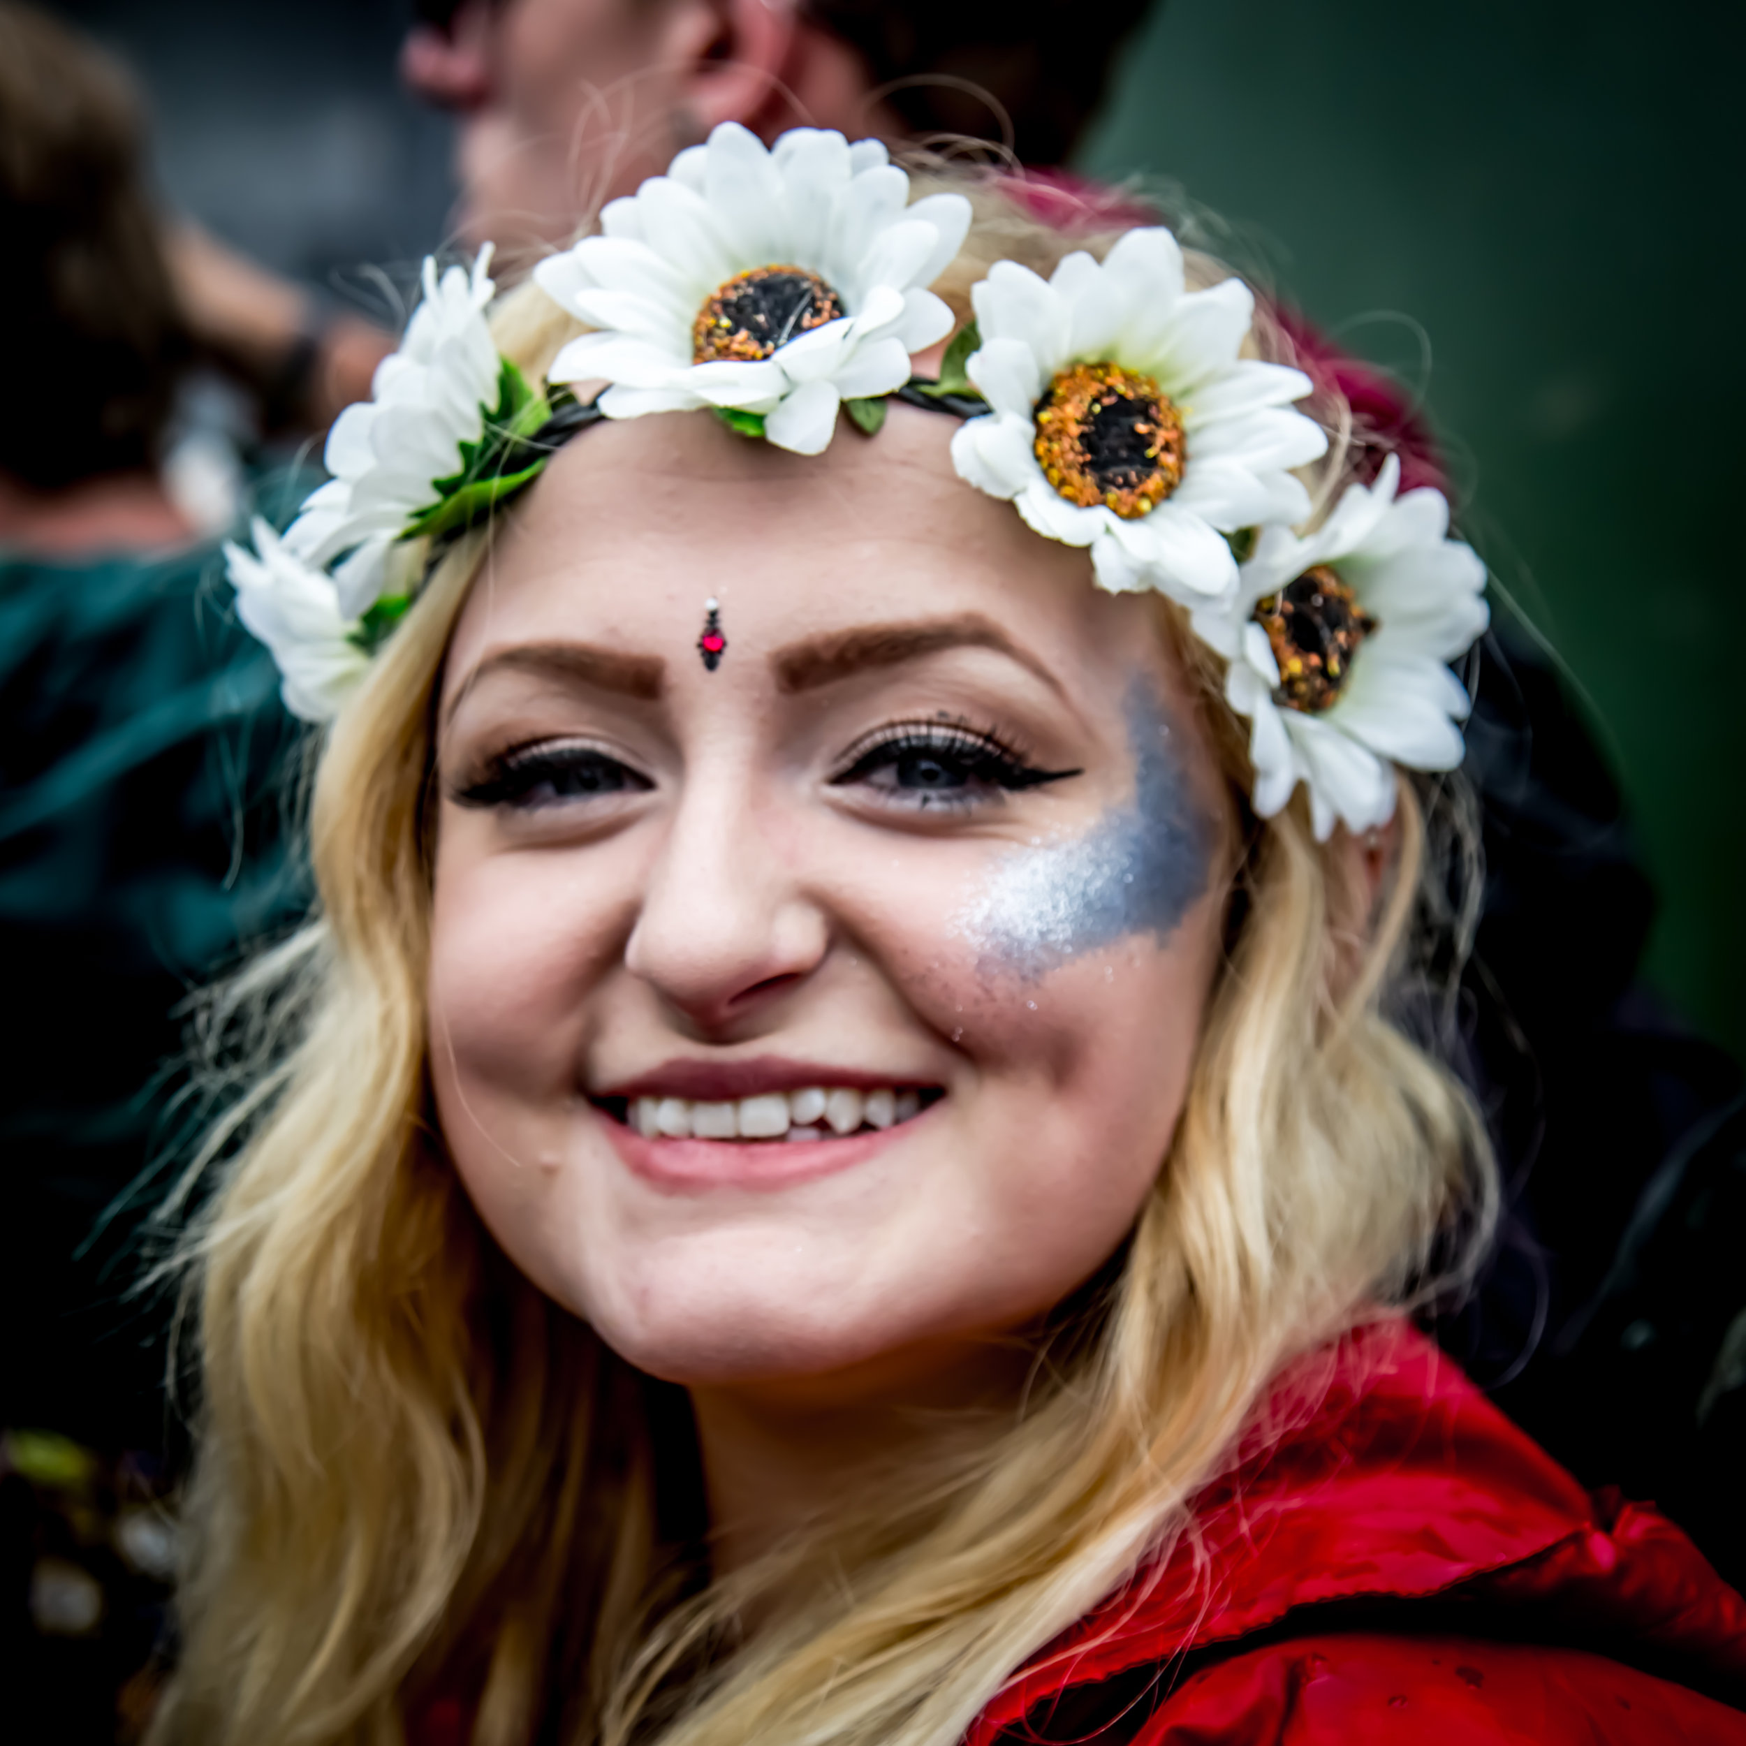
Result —
[[983, 964], [1027, 980], [1135, 934], [1168, 939], [1206, 889], [1210, 829], [1151, 686], [1128, 691], [1133, 796], [1084, 836], [1002, 856], [952, 918]]

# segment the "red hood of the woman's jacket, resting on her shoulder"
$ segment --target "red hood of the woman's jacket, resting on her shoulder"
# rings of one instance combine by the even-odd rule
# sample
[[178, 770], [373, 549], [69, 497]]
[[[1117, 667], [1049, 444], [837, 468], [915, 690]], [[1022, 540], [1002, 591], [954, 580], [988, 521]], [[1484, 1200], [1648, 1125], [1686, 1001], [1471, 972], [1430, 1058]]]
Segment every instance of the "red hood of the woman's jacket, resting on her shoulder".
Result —
[[1210, 1488], [1198, 1531], [1044, 1650], [967, 1746], [1067, 1687], [1330, 1601], [1533, 1608], [1746, 1683], [1746, 1603], [1692, 1542], [1650, 1507], [1591, 1498], [1404, 1323], [1301, 1364], [1273, 1413], [1297, 1428]]

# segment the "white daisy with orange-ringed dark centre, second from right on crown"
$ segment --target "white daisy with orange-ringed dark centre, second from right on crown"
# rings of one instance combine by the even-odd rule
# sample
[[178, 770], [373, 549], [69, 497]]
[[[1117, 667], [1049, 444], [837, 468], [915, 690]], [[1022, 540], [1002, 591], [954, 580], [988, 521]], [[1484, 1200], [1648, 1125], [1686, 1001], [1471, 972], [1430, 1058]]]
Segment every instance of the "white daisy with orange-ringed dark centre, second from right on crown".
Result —
[[1236, 587], [1222, 534], [1310, 513], [1289, 471], [1327, 449], [1290, 410], [1310, 377], [1238, 356], [1254, 295], [1186, 290], [1168, 230], [1072, 253], [1048, 281], [995, 262], [971, 297], [967, 374], [992, 412], [957, 433], [953, 464], [1039, 534], [1090, 546], [1100, 587], [1217, 601]]

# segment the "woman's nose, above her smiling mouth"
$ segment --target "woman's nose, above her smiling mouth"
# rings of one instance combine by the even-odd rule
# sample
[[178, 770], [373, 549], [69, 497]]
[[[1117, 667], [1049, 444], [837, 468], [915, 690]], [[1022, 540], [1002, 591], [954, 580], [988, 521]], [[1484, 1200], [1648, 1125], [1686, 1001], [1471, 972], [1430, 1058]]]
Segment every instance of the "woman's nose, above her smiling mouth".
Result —
[[695, 786], [651, 870], [625, 967], [702, 1034], [761, 1013], [822, 962], [829, 927], [744, 789]]

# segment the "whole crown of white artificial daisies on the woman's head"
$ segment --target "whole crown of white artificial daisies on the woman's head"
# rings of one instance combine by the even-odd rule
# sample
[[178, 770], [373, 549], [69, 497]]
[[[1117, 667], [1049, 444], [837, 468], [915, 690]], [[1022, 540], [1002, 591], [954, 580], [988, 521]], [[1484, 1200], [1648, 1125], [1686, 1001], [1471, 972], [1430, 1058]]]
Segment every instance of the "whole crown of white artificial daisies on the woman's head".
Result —
[[[1048, 540], [1090, 548], [1098, 587], [1156, 588], [1227, 660], [1250, 721], [1254, 808], [1299, 782], [1318, 838], [1393, 814], [1390, 765], [1461, 761], [1468, 697], [1449, 669], [1486, 629], [1486, 567], [1447, 538], [1433, 489], [1399, 492], [1390, 457], [1313, 533], [1294, 468], [1327, 438], [1294, 410], [1310, 379], [1243, 358], [1254, 293], [1189, 290], [1165, 229], [1042, 279], [999, 260], [938, 379], [931, 290], [969, 230], [960, 194], [911, 199], [875, 140], [794, 129], [773, 147], [732, 122], [613, 201], [601, 234], [534, 281], [590, 332], [538, 388], [485, 320], [491, 248], [424, 264], [424, 300], [372, 398], [327, 443], [333, 475], [253, 550], [225, 546], [243, 623], [272, 651], [293, 714], [333, 716], [410, 606], [431, 553], [531, 484], [599, 419], [709, 409], [733, 430], [821, 454], [847, 410], [873, 435], [889, 400], [962, 419], [960, 478]], [[587, 405], [571, 386], [604, 381]]]

